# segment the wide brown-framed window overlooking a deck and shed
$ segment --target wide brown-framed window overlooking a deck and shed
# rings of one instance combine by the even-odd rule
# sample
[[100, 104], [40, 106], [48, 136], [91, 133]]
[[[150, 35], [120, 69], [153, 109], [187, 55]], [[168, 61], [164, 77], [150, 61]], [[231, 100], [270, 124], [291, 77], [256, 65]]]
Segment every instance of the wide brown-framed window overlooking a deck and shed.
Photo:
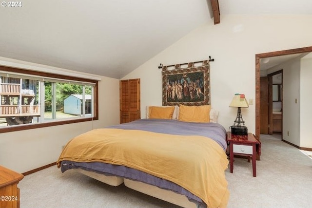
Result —
[[0, 132], [98, 119], [98, 81], [0, 66]]

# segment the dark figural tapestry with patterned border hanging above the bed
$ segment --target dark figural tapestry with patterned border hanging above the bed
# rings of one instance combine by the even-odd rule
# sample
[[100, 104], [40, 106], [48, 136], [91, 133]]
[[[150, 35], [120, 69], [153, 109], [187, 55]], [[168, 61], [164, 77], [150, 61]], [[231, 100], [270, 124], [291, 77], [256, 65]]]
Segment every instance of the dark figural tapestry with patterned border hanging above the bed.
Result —
[[[209, 62], [204, 60], [163, 66], [162, 105], [210, 105]], [[174, 69], [170, 69], [172, 67]]]

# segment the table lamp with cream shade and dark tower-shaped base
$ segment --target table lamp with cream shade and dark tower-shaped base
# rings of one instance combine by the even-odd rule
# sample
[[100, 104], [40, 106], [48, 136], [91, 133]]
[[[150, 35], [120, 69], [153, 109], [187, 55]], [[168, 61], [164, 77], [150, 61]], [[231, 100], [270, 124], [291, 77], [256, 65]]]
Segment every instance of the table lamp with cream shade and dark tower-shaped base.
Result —
[[243, 120], [241, 108], [248, 108], [249, 104], [244, 94], [235, 94], [229, 107], [237, 108], [236, 119], [234, 125], [231, 126], [231, 132], [234, 135], [248, 135], [248, 129]]

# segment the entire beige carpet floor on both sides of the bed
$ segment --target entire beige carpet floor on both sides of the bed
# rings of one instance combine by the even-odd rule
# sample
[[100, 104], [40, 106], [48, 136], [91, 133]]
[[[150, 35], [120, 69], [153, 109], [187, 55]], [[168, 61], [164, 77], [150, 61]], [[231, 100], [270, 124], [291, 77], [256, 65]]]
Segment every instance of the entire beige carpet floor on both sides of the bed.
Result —
[[[312, 207], [312, 160], [278, 137], [261, 135], [257, 177], [252, 164], [242, 158], [235, 158], [234, 173], [226, 170], [228, 208]], [[21, 208], [179, 208], [123, 185], [111, 187], [56, 167], [25, 176], [19, 187]]]

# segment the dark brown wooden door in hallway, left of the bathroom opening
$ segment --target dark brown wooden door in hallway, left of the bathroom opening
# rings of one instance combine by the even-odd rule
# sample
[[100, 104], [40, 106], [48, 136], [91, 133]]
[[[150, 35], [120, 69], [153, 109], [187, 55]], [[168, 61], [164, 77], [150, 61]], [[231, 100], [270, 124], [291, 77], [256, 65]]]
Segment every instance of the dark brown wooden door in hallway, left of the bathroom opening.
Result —
[[269, 134], [269, 78], [260, 77], [260, 134]]

